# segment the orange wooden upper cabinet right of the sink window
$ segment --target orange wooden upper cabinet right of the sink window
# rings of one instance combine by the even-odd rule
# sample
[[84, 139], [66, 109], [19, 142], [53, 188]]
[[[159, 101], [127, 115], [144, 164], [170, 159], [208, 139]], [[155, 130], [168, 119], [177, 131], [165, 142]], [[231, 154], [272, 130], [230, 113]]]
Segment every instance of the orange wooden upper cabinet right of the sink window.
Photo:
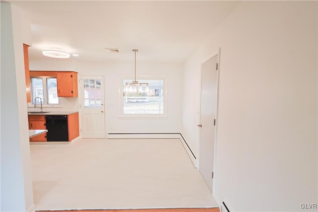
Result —
[[78, 73], [75, 71], [57, 72], [59, 97], [78, 97]]

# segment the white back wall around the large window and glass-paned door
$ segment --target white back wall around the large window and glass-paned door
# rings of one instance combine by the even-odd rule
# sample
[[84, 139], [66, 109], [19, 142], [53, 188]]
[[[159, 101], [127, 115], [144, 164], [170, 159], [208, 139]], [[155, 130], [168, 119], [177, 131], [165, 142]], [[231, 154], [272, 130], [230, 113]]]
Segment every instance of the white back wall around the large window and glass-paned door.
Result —
[[[30, 61], [32, 71], [77, 71], [80, 75], [101, 75], [105, 78], [106, 133], [180, 133], [182, 120], [182, 65], [181, 64], [138, 64], [137, 75], [167, 75], [168, 117], [163, 119], [123, 119], [119, 116], [118, 78], [134, 75], [134, 64], [96, 64], [61, 60]], [[79, 92], [80, 95], [80, 92]], [[63, 108], [78, 107], [77, 98], [64, 98]], [[68, 102], [66, 102], [68, 101]], [[32, 109], [32, 108], [30, 108]], [[50, 110], [54, 110], [51, 109]]]

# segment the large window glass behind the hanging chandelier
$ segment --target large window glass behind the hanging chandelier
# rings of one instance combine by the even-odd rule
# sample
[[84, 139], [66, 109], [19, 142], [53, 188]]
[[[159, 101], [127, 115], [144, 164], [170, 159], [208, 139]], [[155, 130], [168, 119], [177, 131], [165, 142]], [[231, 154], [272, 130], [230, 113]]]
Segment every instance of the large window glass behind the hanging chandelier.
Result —
[[132, 81], [123, 80], [123, 114], [163, 114], [163, 80]]

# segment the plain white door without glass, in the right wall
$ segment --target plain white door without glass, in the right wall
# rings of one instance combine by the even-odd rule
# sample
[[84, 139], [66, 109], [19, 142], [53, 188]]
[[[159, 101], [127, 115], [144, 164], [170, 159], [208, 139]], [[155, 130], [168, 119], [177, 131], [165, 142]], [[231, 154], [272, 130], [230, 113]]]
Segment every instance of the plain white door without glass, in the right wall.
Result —
[[217, 110], [217, 63], [218, 55], [202, 64], [200, 124], [198, 125], [200, 127], [199, 170], [211, 191]]

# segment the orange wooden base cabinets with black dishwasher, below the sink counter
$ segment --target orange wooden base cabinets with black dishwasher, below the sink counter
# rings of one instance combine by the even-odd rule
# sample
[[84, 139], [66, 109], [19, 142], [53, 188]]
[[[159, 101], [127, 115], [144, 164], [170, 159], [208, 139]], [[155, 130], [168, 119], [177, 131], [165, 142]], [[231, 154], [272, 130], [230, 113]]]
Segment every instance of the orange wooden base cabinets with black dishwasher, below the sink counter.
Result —
[[[37, 120], [34, 121], [34, 119]], [[40, 125], [42, 128], [40, 128]], [[48, 130], [45, 135], [33, 137], [30, 141], [72, 141], [79, 137], [79, 113], [70, 115], [31, 115], [29, 116], [29, 129]]]

